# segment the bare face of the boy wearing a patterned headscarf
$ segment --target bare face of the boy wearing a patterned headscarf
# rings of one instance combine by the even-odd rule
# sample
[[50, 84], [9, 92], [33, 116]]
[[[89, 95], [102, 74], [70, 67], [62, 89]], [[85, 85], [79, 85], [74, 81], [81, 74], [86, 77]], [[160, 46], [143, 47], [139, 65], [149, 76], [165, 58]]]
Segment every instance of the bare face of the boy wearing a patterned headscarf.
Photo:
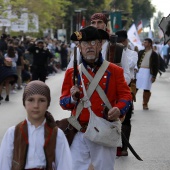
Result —
[[45, 112], [48, 108], [47, 98], [40, 94], [31, 95], [25, 100], [25, 109], [28, 120], [31, 123], [41, 122], [45, 119]]

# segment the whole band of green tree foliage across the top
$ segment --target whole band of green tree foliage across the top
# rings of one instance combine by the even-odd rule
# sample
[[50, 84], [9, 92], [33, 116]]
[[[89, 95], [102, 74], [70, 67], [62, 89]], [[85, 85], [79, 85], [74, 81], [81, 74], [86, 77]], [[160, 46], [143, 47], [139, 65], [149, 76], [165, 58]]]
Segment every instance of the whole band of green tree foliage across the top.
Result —
[[[9, 5], [18, 17], [20, 17], [23, 8], [29, 14], [37, 14], [40, 31], [46, 28], [61, 29], [64, 24], [68, 37], [70, 37], [71, 30], [76, 29], [76, 9], [86, 9], [81, 10], [81, 19], [82, 16], [85, 16], [87, 25], [90, 24], [90, 16], [96, 12], [109, 13], [113, 10], [122, 10], [122, 19], [128, 21], [127, 29], [132, 20], [135, 23], [140, 20], [149, 21], [155, 12], [151, 0], [0, 0], [0, 14]], [[31, 15], [29, 16], [31, 20]], [[5, 13], [4, 17], [6, 17]], [[71, 19], [73, 28], [71, 28]], [[32, 23], [29, 26], [34, 27]]]

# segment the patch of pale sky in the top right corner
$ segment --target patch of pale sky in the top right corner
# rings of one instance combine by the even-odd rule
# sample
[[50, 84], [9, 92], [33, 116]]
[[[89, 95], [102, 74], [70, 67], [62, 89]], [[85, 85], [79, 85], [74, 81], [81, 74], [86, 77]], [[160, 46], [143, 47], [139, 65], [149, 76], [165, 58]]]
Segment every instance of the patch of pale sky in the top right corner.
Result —
[[170, 14], [169, 0], [151, 0], [151, 3], [156, 7], [157, 12], [161, 11], [164, 13], [164, 17], [167, 17]]

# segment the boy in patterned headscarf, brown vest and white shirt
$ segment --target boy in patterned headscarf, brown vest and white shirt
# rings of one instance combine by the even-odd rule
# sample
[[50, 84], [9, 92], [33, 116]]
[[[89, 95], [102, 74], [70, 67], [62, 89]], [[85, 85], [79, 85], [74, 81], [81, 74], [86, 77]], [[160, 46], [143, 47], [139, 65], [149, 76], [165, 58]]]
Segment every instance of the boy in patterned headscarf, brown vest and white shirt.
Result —
[[67, 139], [47, 111], [50, 89], [31, 81], [24, 89], [27, 118], [5, 133], [0, 146], [0, 169], [72, 170]]

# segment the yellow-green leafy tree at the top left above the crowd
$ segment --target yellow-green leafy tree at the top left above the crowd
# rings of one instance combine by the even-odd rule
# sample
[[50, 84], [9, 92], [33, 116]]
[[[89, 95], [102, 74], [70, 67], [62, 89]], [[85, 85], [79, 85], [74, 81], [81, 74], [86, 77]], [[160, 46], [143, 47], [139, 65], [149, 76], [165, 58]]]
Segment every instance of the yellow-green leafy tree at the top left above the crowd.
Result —
[[16, 14], [18, 18], [23, 10], [28, 14], [36, 14], [39, 18], [39, 28], [45, 29], [61, 24], [70, 4], [69, 0], [6, 0], [1, 6], [6, 7], [4, 10], [10, 7], [12, 14]]

